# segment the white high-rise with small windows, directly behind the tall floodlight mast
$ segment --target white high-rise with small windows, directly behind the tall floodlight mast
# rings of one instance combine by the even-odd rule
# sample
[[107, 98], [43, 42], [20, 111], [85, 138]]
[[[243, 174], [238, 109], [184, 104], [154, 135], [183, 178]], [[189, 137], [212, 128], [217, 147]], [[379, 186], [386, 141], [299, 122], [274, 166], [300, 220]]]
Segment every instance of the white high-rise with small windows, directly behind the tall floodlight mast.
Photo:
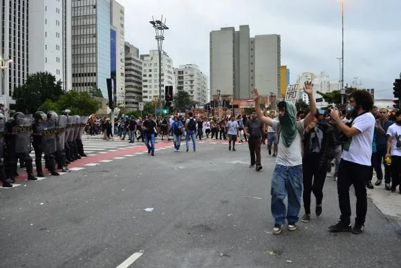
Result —
[[[159, 52], [150, 50], [148, 55], [140, 55], [140, 59], [143, 63], [142, 99], [144, 102], [156, 101], [159, 97]], [[173, 60], [165, 51], [162, 51], [161, 83], [161, 100], [164, 100], [165, 86], [175, 85]]]

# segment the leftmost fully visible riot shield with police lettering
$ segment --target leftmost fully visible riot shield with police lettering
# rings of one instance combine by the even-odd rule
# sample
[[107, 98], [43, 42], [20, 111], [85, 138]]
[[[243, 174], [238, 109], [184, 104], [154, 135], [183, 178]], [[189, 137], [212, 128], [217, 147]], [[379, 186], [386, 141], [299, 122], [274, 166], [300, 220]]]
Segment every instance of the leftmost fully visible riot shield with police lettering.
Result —
[[15, 133], [15, 153], [29, 153], [32, 115], [19, 115], [12, 132]]

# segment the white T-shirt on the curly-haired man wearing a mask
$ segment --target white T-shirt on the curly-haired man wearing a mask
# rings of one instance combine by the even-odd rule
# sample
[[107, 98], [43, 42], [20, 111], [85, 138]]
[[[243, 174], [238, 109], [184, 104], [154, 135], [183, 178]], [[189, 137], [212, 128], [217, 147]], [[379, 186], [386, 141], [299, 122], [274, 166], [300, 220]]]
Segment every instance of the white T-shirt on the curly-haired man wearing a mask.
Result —
[[364, 166], [371, 166], [375, 123], [375, 117], [371, 113], [364, 113], [354, 119], [352, 126], [361, 133], [353, 135], [344, 142], [342, 159]]

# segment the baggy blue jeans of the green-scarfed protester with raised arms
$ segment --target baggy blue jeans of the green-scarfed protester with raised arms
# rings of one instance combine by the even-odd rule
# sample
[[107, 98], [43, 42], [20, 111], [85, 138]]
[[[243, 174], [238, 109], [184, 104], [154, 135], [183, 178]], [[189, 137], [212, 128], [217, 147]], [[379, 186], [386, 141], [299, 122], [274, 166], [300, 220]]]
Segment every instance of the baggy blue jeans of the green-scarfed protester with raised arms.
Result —
[[[272, 216], [274, 224], [295, 223], [299, 220], [302, 195], [302, 165], [282, 166], [277, 164], [273, 171], [272, 188]], [[288, 195], [288, 210], [284, 199]]]

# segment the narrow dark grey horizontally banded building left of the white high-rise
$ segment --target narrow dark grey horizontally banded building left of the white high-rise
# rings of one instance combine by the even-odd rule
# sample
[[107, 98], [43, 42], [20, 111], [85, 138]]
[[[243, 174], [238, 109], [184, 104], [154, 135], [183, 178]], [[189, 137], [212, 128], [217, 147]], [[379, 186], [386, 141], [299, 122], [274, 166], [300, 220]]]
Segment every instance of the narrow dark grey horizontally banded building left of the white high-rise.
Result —
[[142, 100], [142, 60], [139, 49], [125, 42], [125, 108], [138, 110]]

